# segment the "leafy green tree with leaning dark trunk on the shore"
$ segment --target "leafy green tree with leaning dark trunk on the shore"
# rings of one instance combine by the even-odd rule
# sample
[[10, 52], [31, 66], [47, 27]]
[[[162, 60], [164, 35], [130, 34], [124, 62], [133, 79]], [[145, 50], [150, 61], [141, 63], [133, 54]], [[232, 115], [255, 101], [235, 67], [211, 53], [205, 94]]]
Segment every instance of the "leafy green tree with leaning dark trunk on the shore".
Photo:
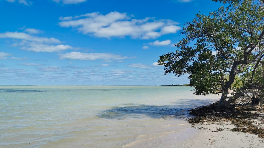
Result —
[[[158, 64], [164, 75], [188, 74], [196, 95], [217, 94], [221, 86], [220, 108], [246, 92], [264, 92], [264, 9], [262, 0], [213, 1], [226, 5], [208, 16], [196, 14], [185, 24], [178, 50], [160, 56]], [[229, 89], [235, 94], [226, 100]]]

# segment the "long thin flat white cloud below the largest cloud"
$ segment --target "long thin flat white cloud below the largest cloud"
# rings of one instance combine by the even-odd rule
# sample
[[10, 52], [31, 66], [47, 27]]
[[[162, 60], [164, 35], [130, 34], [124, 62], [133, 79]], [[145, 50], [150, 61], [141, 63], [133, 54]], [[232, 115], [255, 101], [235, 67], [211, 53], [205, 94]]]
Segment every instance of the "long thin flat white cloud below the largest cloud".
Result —
[[69, 59], [69, 60], [122, 60], [126, 58], [134, 57], [122, 57], [121, 55], [115, 55], [112, 53], [82, 53], [82, 52], [70, 52], [59, 54], [60, 59]]

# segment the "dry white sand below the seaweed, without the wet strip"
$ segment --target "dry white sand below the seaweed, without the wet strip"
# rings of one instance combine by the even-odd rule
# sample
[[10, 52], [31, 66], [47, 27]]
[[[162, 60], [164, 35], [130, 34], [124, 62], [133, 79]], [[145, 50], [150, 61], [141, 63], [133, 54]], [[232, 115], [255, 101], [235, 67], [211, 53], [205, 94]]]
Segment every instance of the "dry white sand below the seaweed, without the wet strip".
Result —
[[[192, 128], [204, 127], [207, 129], [199, 130], [196, 134], [193, 134], [191, 140], [185, 140], [181, 142], [179, 147], [234, 147], [234, 148], [246, 148], [246, 147], [263, 147], [264, 140], [259, 138], [255, 134], [234, 132], [230, 129], [234, 128], [234, 125], [227, 123], [216, 123], [211, 125], [199, 125]], [[210, 130], [209, 130], [210, 129]], [[217, 129], [224, 129], [221, 132]], [[173, 147], [173, 146], [172, 146]]]

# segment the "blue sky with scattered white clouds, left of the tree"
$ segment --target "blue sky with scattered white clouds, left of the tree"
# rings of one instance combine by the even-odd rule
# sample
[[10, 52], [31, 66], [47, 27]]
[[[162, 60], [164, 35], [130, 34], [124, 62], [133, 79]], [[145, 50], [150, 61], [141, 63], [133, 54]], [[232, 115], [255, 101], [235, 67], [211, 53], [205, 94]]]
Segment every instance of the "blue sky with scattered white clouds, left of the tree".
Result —
[[1, 85], [166, 85], [159, 56], [210, 0], [0, 0]]

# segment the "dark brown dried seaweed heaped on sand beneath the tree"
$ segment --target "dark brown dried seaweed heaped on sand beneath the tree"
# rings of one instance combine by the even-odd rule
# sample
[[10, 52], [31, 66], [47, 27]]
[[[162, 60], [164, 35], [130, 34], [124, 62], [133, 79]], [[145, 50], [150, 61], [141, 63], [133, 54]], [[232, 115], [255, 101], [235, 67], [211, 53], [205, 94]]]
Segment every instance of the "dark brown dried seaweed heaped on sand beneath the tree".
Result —
[[253, 119], [259, 119], [260, 117], [260, 114], [252, 111], [260, 110], [260, 108], [254, 107], [249, 103], [233, 103], [227, 108], [216, 109], [217, 104], [218, 102], [214, 102], [210, 105], [193, 109], [190, 115], [195, 117], [188, 118], [187, 121], [192, 125], [204, 124], [204, 122], [210, 121], [230, 121], [236, 126], [232, 131], [253, 133], [260, 138], [264, 138], [264, 129], [254, 125], [252, 122]]

